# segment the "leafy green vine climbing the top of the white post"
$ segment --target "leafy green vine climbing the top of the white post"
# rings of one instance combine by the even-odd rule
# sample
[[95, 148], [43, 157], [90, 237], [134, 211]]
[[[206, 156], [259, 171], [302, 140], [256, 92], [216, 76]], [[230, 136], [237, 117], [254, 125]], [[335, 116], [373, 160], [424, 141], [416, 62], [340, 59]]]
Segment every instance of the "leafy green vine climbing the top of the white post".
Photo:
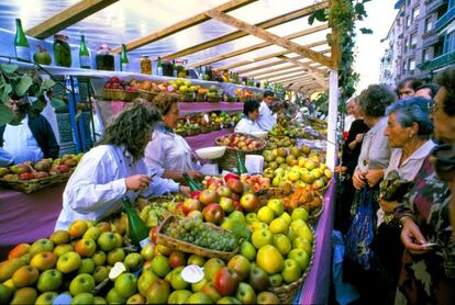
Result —
[[[313, 12], [308, 21], [310, 24], [318, 21], [330, 20], [331, 25], [339, 30], [339, 43], [341, 48], [341, 61], [339, 67], [339, 86], [341, 100], [346, 101], [355, 93], [355, 86], [359, 75], [354, 71], [355, 61], [355, 22], [367, 16], [364, 3], [370, 0], [337, 0], [333, 1], [330, 9]], [[371, 34], [373, 31], [366, 27], [359, 29], [363, 34]], [[331, 34], [328, 34], [329, 43], [332, 43]], [[345, 103], [340, 103], [339, 111], [345, 111]]]

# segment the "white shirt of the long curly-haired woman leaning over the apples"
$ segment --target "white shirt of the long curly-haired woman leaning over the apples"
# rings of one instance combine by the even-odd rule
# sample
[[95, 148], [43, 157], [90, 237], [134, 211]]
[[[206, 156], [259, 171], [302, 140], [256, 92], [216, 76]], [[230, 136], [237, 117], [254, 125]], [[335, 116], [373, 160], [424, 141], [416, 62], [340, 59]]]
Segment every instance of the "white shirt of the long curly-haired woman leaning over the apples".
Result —
[[134, 174], [151, 174], [151, 171], [143, 159], [133, 163], [133, 158], [122, 147], [100, 145], [90, 149], [66, 184], [55, 229], [66, 229], [76, 219], [100, 221], [119, 212], [125, 194], [134, 201], [140, 194], [162, 195], [179, 190], [179, 184], [173, 180], [154, 177], [148, 189], [126, 191], [125, 178]]

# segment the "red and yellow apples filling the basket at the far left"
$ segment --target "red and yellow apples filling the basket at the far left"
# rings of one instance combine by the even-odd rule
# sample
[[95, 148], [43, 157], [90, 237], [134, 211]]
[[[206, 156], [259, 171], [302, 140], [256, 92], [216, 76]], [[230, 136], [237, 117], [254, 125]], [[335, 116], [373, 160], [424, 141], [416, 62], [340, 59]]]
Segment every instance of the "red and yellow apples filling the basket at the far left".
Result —
[[35, 163], [25, 161], [9, 168], [0, 168], [0, 180], [7, 182], [44, 179], [70, 171], [77, 166], [84, 154], [64, 155], [57, 159], [42, 159]]

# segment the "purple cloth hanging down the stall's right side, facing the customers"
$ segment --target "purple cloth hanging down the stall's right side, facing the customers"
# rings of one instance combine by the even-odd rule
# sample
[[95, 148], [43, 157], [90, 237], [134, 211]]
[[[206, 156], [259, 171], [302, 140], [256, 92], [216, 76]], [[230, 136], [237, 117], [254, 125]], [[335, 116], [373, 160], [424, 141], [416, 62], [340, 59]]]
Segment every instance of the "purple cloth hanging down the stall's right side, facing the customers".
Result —
[[328, 304], [331, 283], [332, 228], [335, 207], [335, 180], [324, 195], [324, 212], [315, 229], [317, 249], [313, 267], [295, 301], [298, 304]]

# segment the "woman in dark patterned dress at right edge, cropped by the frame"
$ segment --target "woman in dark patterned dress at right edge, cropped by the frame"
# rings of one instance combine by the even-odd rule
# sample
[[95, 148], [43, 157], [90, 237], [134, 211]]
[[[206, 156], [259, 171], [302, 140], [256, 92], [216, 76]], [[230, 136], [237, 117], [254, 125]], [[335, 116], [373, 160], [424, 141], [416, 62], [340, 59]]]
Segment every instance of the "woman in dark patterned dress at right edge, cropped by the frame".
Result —
[[[435, 136], [455, 143], [455, 69], [436, 76], [442, 88], [435, 97]], [[453, 304], [455, 300], [455, 237], [450, 222], [451, 192], [426, 158], [412, 190], [395, 212], [402, 225], [406, 251], [398, 282], [397, 302]], [[403, 302], [404, 301], [404, 302]]]

